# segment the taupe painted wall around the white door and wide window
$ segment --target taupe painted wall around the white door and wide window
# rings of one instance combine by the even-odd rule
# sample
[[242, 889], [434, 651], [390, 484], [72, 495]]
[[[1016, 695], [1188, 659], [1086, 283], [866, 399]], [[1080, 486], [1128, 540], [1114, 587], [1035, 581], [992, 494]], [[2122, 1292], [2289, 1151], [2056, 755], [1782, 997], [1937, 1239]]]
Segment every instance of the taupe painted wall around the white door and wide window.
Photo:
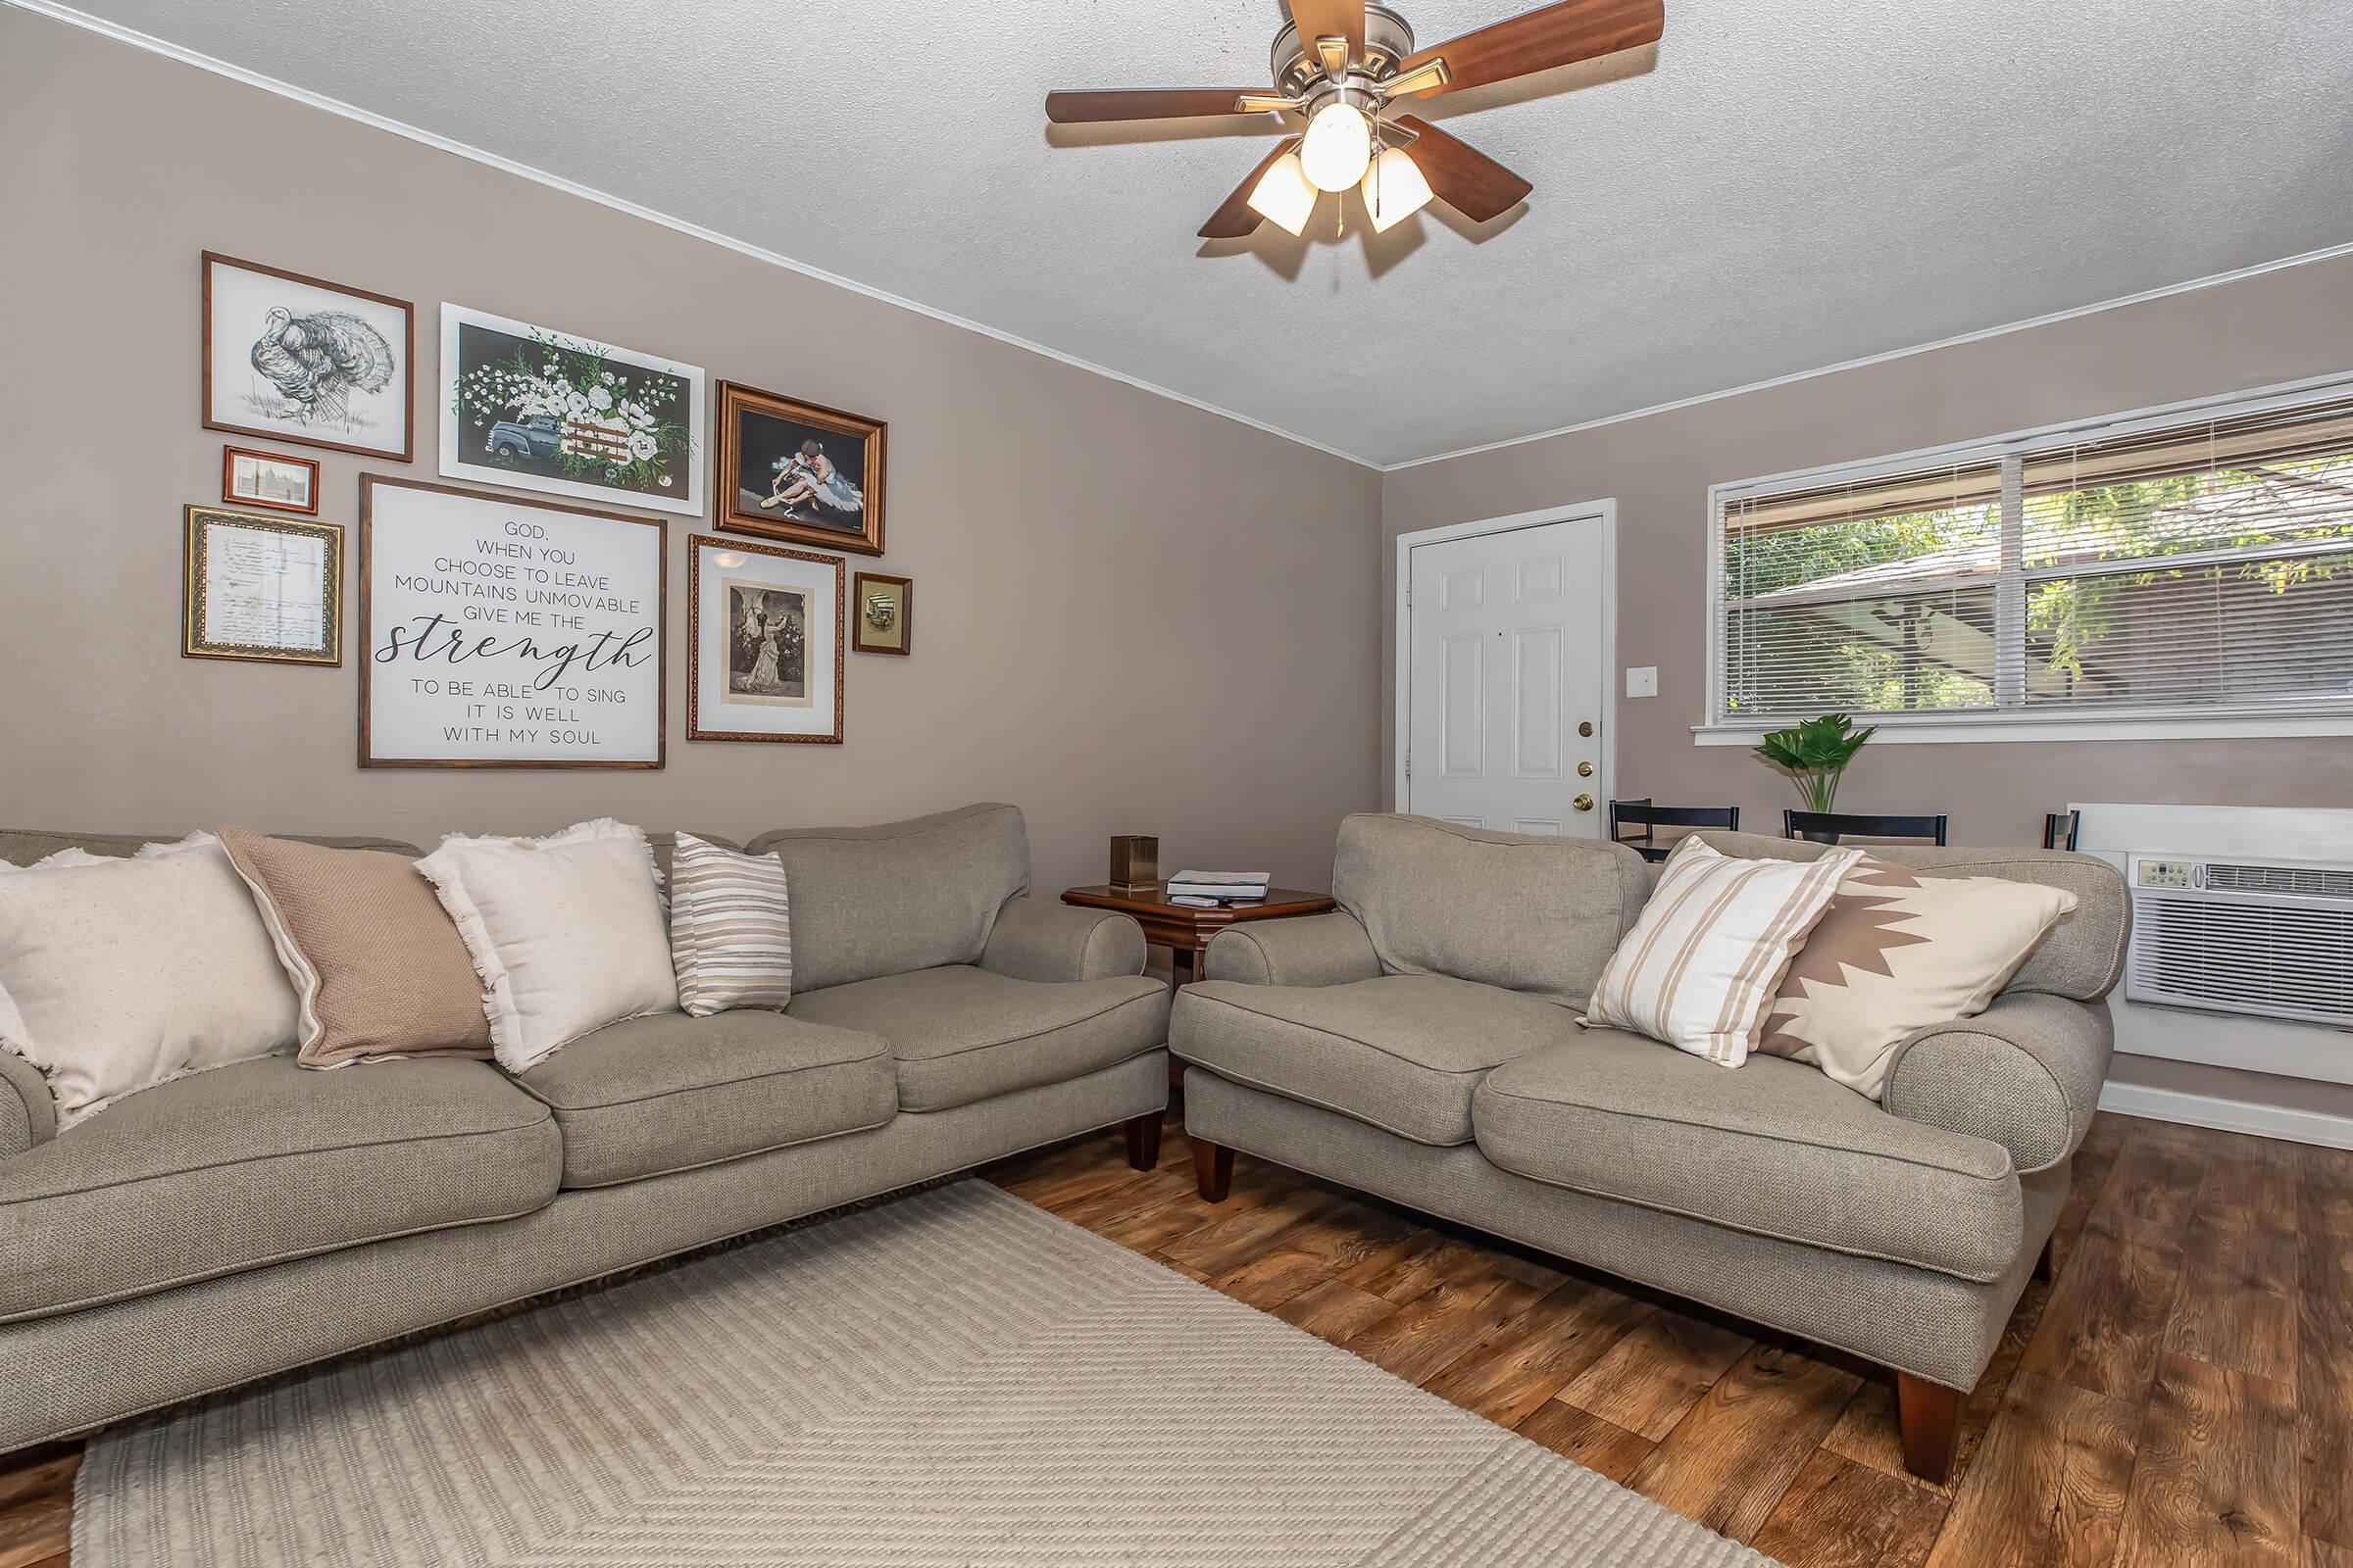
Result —
[[[1659, 665], [1657, 698], [1617, 696], [1617, 795], [1737, 804], [1779, 832], [1791, 785], [1746, 750], [1692, 745], [1706, 712], [1711, 484], [2348, 369], [2353, 259], [2337, 259], [1393, 470], [1381, 484], [1384, 790], [1398, 534], [1614, 496], [1619, 668]], [[2042, 813], [2071, 799], [2353, 806], [2353, 741], [1875, 745], [1838, 795], [1849, 811], [1951, 811], [1958, 844], [2035, 844]]]

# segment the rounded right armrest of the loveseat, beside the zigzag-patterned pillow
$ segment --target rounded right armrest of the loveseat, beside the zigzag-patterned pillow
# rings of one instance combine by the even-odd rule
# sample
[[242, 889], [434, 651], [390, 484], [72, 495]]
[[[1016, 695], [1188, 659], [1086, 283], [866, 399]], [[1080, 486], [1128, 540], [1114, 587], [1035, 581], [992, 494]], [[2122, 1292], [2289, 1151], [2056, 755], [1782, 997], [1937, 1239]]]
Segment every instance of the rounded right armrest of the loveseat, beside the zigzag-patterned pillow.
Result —
[[2007, 992], [1977, 1018], [1897, 1046], [1880, 1105], [1892, 1117], [1991, 1138], [2019, 1173], [2057, 1166], [2092, 1131], [2115, 1025], [2106, 1001]]

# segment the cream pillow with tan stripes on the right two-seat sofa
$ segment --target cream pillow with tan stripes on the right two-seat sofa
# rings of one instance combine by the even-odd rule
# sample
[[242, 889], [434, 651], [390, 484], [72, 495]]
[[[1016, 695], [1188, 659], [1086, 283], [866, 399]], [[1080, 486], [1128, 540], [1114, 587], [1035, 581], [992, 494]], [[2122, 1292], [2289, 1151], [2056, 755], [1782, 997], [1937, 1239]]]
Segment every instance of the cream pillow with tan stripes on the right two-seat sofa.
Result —
[[1861, 858], [1859, 849], [1833, 849], [1819, 860], [1734, 860], [1685, 839], [1593, 983], [1584, 1023], [1739, 1067], [1788, 961]]

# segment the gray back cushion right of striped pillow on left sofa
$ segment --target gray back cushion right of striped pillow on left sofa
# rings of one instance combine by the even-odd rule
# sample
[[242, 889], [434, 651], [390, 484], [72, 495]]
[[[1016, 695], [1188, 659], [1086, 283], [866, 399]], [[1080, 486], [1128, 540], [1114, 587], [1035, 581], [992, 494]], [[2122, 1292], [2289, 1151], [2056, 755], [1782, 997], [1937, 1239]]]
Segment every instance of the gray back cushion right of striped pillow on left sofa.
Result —
[[972, 964], [998, 907], [1028, 889], [1014, 806], [962, 806], [880, 827], [784, 827], [746, 844], [793, 889], [793, 990]]

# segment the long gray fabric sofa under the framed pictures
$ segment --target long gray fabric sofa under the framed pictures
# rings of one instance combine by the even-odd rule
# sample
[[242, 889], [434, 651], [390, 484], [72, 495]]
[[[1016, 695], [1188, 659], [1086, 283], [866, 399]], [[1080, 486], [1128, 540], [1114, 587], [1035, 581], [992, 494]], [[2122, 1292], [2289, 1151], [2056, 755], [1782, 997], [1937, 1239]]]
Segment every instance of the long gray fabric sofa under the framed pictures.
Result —
[[[0, 856], [141, 842], [0, 832]], [[0, 1051], [0, 1450], [1075, 1133], [1127, 1124], [1158, 1159], [1144, 931], [1028, 898], [1016, 809], [751, 849], [786, 863], [786, 1013], [633, 1018], [520, 1077], [275, 1056], [66, 1133]]]

